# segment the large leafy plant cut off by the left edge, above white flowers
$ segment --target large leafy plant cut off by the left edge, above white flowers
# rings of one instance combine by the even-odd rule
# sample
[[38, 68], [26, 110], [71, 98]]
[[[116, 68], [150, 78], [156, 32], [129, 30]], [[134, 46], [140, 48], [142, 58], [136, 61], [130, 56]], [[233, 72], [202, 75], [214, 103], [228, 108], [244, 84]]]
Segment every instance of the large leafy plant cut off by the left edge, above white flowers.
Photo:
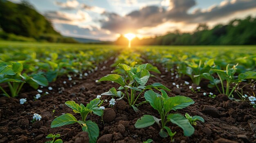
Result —
[[48, 86], [48, 81], [43, 75], [33, 74], [28, 76], [26, 73], [21, 74], [23, 71], [23, 64], [19, 62], [2, 62], [0, 61], [0, 84], [7, 83], [11, 92], [9, 95], [1, 86], [0, 90], [7, 97], [18, 96], [22, 86], [28, 83], [34, 89], [40, 86]]

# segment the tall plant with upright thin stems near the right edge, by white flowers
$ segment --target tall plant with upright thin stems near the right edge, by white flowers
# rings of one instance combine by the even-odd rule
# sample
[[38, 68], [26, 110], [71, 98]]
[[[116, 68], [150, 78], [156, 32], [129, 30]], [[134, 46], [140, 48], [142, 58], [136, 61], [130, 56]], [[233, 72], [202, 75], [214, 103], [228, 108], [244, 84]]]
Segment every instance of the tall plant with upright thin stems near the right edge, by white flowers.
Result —
[[[202, 73], [200, 75], [195, 75], [194, 77], [202, 77], [208, 79], [210, 81], [208, 87], [216, 86], [220, 94], [225, 94], [230, 97], [238, 86], [238, 83], [241, 82], [241, 80], [235, 79], [234, 76], [236, 73], [236, 66], [237, 65], [234, 65], [232, 68], [229, 68], [229, 64], [227, 64], [226, 70], [212, 69], [209, 71], [209, 73]], [[218, 78], [214, 78], [212, 75], [213, 73], [216, 73]], [[226, 81], [226, 86], [224, 86], [224, 81]], [[232, 83], [235, 83], [236, 85], [234, 87], [230, 87]], [[221, 84], [221, 90], [218, 87], [218, 84]]]

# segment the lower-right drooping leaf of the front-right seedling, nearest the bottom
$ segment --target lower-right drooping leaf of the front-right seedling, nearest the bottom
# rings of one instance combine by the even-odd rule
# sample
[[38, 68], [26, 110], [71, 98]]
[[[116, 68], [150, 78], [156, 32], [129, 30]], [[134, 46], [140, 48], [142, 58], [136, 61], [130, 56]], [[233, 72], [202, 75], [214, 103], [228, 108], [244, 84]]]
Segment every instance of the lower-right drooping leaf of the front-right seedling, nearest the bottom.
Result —
[[195, 131], [193, 126], [189, 123], [189, 120], [181, 114], [169, 114], [167, 119], [182, 128], [184, 136], [191, 136]]

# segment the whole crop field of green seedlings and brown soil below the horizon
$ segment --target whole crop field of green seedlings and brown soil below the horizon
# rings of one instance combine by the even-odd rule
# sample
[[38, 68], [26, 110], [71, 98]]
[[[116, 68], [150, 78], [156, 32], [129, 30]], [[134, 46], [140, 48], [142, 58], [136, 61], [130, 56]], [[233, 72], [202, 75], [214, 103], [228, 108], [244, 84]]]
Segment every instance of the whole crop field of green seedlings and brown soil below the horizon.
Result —
[[0, 143], [256, 143], [255, 49], [0, 42]]

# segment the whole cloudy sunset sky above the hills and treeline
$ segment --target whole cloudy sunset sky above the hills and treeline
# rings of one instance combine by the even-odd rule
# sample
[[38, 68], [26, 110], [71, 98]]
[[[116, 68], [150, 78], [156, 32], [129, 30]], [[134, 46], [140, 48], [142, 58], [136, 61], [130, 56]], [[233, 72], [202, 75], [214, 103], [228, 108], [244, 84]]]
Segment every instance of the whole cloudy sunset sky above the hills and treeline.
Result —
[[[19, 0], [11, 0], [18, 2]], [[119, 34], [163, 35], [256, 16], [255, 0], [28, 0], [61, 34], [116, 40]]]

